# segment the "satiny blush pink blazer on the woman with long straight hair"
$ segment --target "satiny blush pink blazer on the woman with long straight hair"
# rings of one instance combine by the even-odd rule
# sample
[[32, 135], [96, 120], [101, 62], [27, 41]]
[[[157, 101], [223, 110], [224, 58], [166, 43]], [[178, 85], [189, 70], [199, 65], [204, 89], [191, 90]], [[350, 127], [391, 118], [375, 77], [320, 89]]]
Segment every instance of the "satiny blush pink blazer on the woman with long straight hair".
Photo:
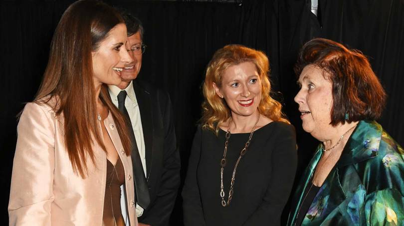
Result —
[[[94, 142], [95, 165], [88, 158], [88, 176], [78, 176], [65, 150], [63, 118], [55, 117], [49, 105], [28, 103], [20, 117], [8, 203], [9, 225], [101, 226], [106, 153]], [[131, 226], [137, 226], [131, 157], [123, 150], [111, 114], [104, 125], [125, 169], [126, 209]]]

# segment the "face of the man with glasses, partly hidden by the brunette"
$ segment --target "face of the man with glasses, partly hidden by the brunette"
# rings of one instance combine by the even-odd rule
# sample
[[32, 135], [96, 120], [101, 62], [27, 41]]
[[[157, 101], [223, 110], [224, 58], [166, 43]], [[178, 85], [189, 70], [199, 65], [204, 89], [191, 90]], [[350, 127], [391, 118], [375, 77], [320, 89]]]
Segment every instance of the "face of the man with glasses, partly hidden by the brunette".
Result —
[[[128, 37], [126, 48], [128, 50], [134, 49], [134, 47], [140, 47], [142, 45], [142, 38], [139, 31]], [[129, 55], [133, 58], [133, 62], [125, 65], [121, 73], [122, 82], [118, 85], [119, 88], [125, 89], [128, 87], [131, 80], [136, 79], [139, 75], [140, 68], [142, 67], [142, 51], [129, 51]]]

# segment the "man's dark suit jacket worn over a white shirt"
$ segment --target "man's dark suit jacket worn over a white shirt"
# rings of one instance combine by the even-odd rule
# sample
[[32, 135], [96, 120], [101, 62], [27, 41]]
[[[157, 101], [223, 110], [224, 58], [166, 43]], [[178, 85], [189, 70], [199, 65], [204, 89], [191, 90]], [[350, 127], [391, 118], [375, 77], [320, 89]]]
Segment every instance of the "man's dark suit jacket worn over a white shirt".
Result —
[[177, 150], [170, 96], [150, 84], [133, 80], [142, 119], [150, 205], [140, 223], [167, 226], [180, 186], [180, 155]]

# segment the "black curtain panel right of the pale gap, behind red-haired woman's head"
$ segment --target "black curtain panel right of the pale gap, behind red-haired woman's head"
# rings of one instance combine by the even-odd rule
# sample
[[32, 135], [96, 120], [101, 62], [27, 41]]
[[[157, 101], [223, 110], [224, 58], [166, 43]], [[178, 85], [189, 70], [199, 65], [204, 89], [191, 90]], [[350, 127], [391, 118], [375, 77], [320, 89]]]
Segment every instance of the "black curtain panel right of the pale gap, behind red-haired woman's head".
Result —
[[404, 144], [404, 2], [401, 0], [322, 0], [321, 36], [359, 49], [388, 94], [379, 122]]

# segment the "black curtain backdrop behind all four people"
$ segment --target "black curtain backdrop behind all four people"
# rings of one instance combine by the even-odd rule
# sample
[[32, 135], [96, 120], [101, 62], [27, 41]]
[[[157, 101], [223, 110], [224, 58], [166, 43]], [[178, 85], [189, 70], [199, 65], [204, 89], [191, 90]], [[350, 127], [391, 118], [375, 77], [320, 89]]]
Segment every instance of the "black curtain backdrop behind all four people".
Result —
[[[3, 0], [0, 2], [1, 60], [1, 195], [3, 224], [12, 159], [16, 115], [32, 101], [44, 72], [53, 31], [73, 0]], [[139, 17], [145, 27], [140, 78], [167, 90], [173, 102], [182, 181], [191, 143], [201, 115], [204, 69], [215, 50], [243, 44], [264, 51], [270, 59], [273, 96], [296, 127], [299, 169], [296, 180], [318, 142], [301, 128], [293, 65], [301, 46], [314, 37], [329, 38], [361, 50], [370, 59], [388, 93], [379, 122], [404, 144], [404, 1], [319, 0], [319, 14], [310, 0], [244, 0], [236, 3], [106, 0]], [[20, 186], [24, 186], [21, 184]], [[181, 192], [181, 191], [180, 191]], [[219, 199], [218, 199], [219, 201]], [[172, 216], [182, 225], [179, 195]], [[284, 220], [288, 207], [284, 211]], [[3, 225], [1, 224], [1, 225]]]

